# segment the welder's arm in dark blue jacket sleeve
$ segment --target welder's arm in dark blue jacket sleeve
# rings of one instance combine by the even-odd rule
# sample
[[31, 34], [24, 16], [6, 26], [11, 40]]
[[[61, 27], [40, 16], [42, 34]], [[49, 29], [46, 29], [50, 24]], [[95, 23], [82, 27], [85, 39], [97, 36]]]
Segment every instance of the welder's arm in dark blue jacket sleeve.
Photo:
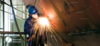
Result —
[[26, 34], [33, 34], [33, 23], [31, 20], [26, 20], [24, 24], [24, 33]]

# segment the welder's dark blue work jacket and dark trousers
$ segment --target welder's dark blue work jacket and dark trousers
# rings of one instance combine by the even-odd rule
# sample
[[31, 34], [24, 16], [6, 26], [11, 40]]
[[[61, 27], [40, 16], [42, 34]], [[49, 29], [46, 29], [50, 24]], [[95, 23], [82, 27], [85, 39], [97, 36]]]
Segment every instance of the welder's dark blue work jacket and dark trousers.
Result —
[[[34, 34], [33, 24], [34, 24], [34, 19], [31, 16], [29, 16], [24, 23], [24, 33], [29, 35], [27, 39], [29, 39], [32, 36], [32, 34]], [[27, 43], [28, 43], [28, 46], [36, 46], [36, 45], [44, 46], [44, 42], [46, 41], [47, 41], [46, 34], [44, 34], [44, 35], [39, 36], [38, 38], [36, 35], [35, 39], [32, 39], [31, 41], [28, 41]]]

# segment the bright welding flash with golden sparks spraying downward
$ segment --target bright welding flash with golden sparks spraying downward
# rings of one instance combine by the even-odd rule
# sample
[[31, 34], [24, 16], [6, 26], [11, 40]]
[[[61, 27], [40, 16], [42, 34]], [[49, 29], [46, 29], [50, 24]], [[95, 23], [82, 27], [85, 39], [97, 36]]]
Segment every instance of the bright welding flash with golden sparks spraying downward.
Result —
[[50, 24], [50, 20], [46, 17], [39, 17], [38, 19], [35, 20], [34, 34], [36, 35], [37, 32], [38, 32], [37, 36], [44, 35], [44, 32], [46, 32], [47, 40], [50, 40], [51, 37], [51, 39], [53, 38], [55, 39], [57, 44], [58, 44], [58, 39], [62, 42], [61, 38], [55, 32], [54, 27]]

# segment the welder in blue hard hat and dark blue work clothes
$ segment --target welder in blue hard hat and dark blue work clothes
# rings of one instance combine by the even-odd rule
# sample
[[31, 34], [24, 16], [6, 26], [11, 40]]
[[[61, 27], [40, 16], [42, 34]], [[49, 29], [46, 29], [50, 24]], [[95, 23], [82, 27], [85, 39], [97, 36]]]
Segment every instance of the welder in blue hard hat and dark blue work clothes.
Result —
[[[32, 37], [32, 35], [34, 34], [34, 23], [35, 20], [39, 17], [39, 15], [37, 14], [38, 11], [34, 6], [28, 7], [28, 13], [29, 13], [29, 17], [26, 19], [24, 24], [24, 33], [29, 35], [27, 39]], [[46, 37], [44, 39], [46, 42], [47, 41]], [[37, 35], [35, 35], [35, 38], [28, 41], [27, 43], [28, 46], [44, 46], [45, 42], [43, 41], [42, 36], [40, 36], [39, 39], [37, 40]]]

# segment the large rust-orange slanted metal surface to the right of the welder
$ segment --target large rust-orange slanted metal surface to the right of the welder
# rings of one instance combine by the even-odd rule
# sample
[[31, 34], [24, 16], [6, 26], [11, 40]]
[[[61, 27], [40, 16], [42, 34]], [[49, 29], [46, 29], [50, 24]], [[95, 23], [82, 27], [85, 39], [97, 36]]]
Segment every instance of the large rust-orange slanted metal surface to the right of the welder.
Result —
[[[26, 6], [34, 6], [35, 4], [35, 0], [22, 1]], [[49, 17], [57, 32], [64, 34], [66, 32], [73, 33], [91, 31], [94, 29], [100, 30], [99, 2], [100, 0], [36, 0], [35, 7], [40, 14]], [[65, 3], [67, 4], [67, 6], [65, 5]], [[83, 38], [85, 37], [83, 36]], [[92, 38], [92, 36], [89, 37], [89, 39], [90, 38]], [[94, 39], [96, 39], [96, 37], [94, 37]], [[76, 40], [76, 42], [74, 43], [76, 44], [76, 46], [90, 46], [88, 44], [93, 43], [90, 41], [85, 38], [82, 43], [80, 43], [80, 41], [78, 40]], [[98, 44], [99, 41], [96, 40], [96, 43]], [[96, 43], [92, 46], [96, 45]]]

